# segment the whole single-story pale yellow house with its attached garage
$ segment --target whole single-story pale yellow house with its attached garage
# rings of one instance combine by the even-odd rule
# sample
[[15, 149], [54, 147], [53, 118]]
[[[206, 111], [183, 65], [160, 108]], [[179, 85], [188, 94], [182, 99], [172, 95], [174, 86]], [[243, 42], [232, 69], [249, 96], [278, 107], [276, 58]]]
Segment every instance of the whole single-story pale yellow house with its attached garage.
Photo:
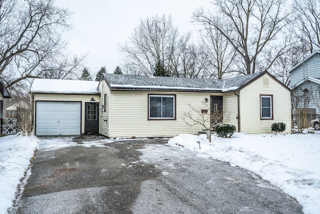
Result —
[[[79, 82], [82, 91], [71, 92], [77, 91], [72, 88]], [[69, 85], [69, 89], [59, 89], [60, 84]], [[87, 84], [92, 88], [85, 89]], [[122, 74], [104, 74], [100, 82], [35, 79], [30, 91], [34, 100], [36, 135], [99, 133], [107, 137], [147, 137], [195, 134], [203, 127], [188, 126], [182, 119], [183, 112], [191, 110], [189, 105], [211, 111], [221, 106], [229, 114], [227, 123], [235, 125], [240, 132], [270, 133], [274, 122], [287, 124], [285, 133], [290, 132], [291, 90], [268, 72], [229, 79]], [[79, 107], [74, 107], [72, 113], [69, 105]], [[63, 117], [72, 114], [77, 116], [76, 123], [70, 117]], [[90, 121], [91, 125], [88, 124]], [[78, 131], [64, 131], [66, 127], [61, 123], [66, 127], [74, 124], [73, 129]], [[86, 131], [94, 124], [98, 124], [97, 132]], [[60, 129], [60, 126], [64, 128]]]

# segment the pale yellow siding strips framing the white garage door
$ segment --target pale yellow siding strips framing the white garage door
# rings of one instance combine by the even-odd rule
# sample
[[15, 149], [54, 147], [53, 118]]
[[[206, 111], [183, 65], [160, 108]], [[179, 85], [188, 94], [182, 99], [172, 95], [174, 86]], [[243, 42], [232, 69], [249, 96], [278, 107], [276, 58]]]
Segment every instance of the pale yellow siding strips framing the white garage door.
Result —
[[[71, 94], [34, 94], [34, 105], [36, 105], [35, 101], [76, 101], [81, 102], [81, 134], [84, 133], [84, 104], [85, 102], [90, 102], [92, 95], [71, 95]], [[99, 102], [100, 96], [93, 95], [93, 99]], [[35, 106], [33, 108], [33, 121], [35, 121]], [[99, 112], [100, 113], [100, 112]], [[34, 129], [35, 122], [33, 124]]]

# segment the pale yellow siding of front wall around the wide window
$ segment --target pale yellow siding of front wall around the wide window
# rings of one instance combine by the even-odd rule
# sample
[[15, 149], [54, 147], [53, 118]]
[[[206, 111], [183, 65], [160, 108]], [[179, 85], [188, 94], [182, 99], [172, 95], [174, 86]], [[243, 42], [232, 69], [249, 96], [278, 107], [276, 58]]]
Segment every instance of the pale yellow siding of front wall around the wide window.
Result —
[[[175, 95], [175, 120], [148, 120], [148, 94]], [[221, 94], [219, 94], [221, 95]], [[209, 109], [208, 93], [111, 91], [109, 137], [174, 136], [181, 133], [195, 134], [200, 125], [188, 126], [183, 121], [183, 112], [190, 111], [188, 103], [197, 109]], [[210, 111], [208, 110], [208, 113]]]

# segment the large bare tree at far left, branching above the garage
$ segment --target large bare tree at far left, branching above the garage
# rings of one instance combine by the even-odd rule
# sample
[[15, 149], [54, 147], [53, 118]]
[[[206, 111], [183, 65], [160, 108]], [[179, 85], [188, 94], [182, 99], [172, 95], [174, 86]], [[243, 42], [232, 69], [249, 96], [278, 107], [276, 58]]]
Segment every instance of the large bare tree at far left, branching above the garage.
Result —
[[27, 78], [72, 78], [85, 55], [69, 57], [70, 12], [54, 0], [0, 1], [0, 77], [7, 87]]

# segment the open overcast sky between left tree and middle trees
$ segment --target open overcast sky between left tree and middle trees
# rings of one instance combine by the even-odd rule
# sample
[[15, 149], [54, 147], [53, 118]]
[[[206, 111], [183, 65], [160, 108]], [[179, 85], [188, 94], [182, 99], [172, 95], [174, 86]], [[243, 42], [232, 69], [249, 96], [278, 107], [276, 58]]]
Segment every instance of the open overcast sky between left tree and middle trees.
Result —
[[[140, 19], [158, 15], [172, 16], [180, 33], [194, 28], [190, 23], [192, 12], [212, 7], [209, 0], [55, 0], [56, 5], [74, 12], [70, 23], [73, 29], [63, 32], [69, 41], [68, 49], [80, 55], [89, 52], [86, 66], [95, 77], [100, 67], [113, 73], [121, 63], [118, 43], [131, 35]], [[194, 33], [195, 34], [195, 33]]]

